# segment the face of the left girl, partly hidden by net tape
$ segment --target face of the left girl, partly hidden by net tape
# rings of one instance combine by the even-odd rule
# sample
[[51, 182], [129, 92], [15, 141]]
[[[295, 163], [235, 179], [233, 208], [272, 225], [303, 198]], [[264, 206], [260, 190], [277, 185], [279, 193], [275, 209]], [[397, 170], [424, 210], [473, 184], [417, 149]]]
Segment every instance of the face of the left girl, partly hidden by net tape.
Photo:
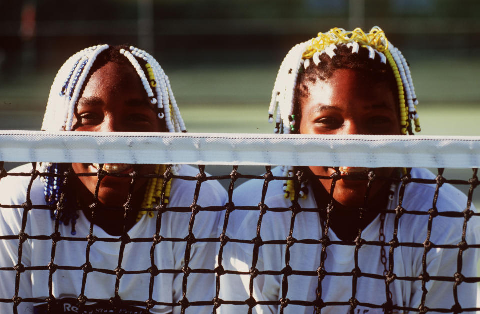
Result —
[[[74, 131], [93, 132], [162, 132], [165, 131], [146, 95], [133, 67], [108, 62], [87, 81], [78, 100], [73, 119]], [[98, 164], [73, 163], [75, 173], [96, 173]], [[153, 173], [152, 165], [136, 165], [140, 174]], [[131, 173], [131, 164], [104, 164], [109, 173]], [[94, 194], [98, 178], [80, 176], [81, 183]], [[138, 191], [147, 179], [135, 181]], [[105, 176], [101, 180], [98, 200], [103, 204], [121, 206], [128, 195], [131, 179]]]

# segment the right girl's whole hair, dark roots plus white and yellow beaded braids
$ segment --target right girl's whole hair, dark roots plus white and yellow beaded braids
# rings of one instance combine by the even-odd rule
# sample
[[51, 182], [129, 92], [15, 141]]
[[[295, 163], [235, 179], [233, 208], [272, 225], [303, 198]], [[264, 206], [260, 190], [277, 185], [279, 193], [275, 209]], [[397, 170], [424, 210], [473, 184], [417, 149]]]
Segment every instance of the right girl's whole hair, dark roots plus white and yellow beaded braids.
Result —
[[[358, 69], [383, 78], [397, 95], [400, 132], [413, 135], [413, 130], [421, 131], [408, 63], [383, 30], [375, 26], [368, 33], [361, 28], [353, 31], [332, 28], [288, 52], [280, 65], [268, 110], [268, 121], [276, 121], [274, 132], [298, 133], [295, 126], [301, 117], [298, 100], [308, 93], [306, 83], [325, 80], [339, 68]], [[283, 176], [291, 177], [294, 173], [294, 167], [284, 166]], [[285, 181], [283, 189], [285, 197], [294, 197], [292, 180]], [[300, 197], [307, 191], [301, 186]]]

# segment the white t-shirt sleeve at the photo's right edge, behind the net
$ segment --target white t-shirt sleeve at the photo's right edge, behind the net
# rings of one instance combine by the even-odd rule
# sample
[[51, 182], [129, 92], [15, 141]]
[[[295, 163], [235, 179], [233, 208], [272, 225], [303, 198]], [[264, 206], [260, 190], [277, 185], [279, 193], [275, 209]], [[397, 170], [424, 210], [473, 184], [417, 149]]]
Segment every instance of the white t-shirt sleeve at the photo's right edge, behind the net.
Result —
[[[462, 212], [466, 208], [466, 196], [450, 185], [444, 185], [439, 190], [438, 201], [436, 203], [438, 211], [456, 211]], [[417, 195], [415, 200], [425, 198], [431, 191], [423, 190], [423, 193]], [[429, 197], [426, 197], [429, 198]], [[431, 202], [431, 198], [429, 198]], [[431, 203], [425, 204], [425, 208], [431, 207]], [[470, 210], [476, 212], [473, 205]], [[428, 217], [428, 216], [426, 216]], [[451, 309], [455, 304], [454, 286], [458, 280], [456, 290], [458, 303], [462, 308], [477, 307], [478, 283], [469, 283], [463, 280], [464, 277], [477, 277], [477, 262], [480, 258], [480, 249], [467, 248], [460, 255], [460, 246], [462, 241], [464, 217], [445, 217], [438, 215], [432, 219], [430, 241], [435, 245], [454, 245], [454, 248], [432, 248], [426, 255], [427, 272], [430, 277], [440, 276], [438, 280], [430, 279], [425, 283], [427, 294], [425, 296], [425, 306], [428, 308]], [[415, 226], [411, 226], [414, 228]], [[426, 228], [427, 226], [420, 226]], [[422, 243], [425, 238], [415, 240]], [[480, 243], [480, 217], [472, 216], [467, 222], [465, 240], [468, 245]], [[422, 250], [423, 251], [423, 250]], [[422, 256], [416, 258], [418, 266], [417, 274], [423, 273]], [[458, 274], [457, 274], [458, 273]], [[459, 275], [461, 273], [461, 275]], [[448, 280], [445, 280], [447, 279]], [[458, 279], [456, 279], [458, 278]], [[417, 308], [421, 304], [423, 290], [421, 281], [415, 281], [412, 284], [412, 297], [410, 306]]]

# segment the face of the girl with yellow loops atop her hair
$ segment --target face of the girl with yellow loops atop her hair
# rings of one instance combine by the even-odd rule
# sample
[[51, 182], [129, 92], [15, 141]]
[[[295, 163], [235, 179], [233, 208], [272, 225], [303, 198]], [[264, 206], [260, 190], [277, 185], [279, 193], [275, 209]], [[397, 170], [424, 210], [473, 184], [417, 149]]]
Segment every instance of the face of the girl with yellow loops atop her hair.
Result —
[[[322, 81], [309, 83], [309, 93], [299, 99], [301, 134], [389, 134], [400, 135], [398, 106], [387, 82], [374, 80], [351, 69], [338, 69]], [[348, 165], [345, 165], [348, 166]], [[329, 176], [333, 167], [311, 166], [315, 175]], [[342, 174], [364, 173], [366, 168], [340, 168]], [[388, 176], [392, 168], [377, 168], [378, 176]], [[320, 179], [330, 192], [331, 181]], [[384, 182], [373, 181], [370, 196], [374, 196]], [[333, 197], [347, 206], [362, 206], [367, 180], [340, 179], [336, 181]]]

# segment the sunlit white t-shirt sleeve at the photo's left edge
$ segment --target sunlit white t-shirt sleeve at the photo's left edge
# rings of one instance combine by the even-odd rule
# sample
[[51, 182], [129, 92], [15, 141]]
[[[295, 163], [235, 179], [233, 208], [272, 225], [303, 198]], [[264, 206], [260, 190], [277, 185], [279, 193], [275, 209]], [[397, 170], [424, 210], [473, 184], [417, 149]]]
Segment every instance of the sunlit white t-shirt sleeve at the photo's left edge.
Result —
[[[16, 239], [0, 240], [0, 268], [12, 268], [18, 264], [19, 240], [18, 234], [21, 230], [23, 209], [12, 209], [5, 205], [20, 205], [26, 201], [26, 186], [29, 178], [3, 178], [0, 182], [0, 236], [17, 236]], [[2, 206], [3, 205], [3, 206]], [[27, 226], [28, 227], [28, 226]], [[28, 229], [25, 229], [28, 233]], [[31, 250], [29, 240], [22, 246], [21, 264], [24, 267], [30, 266]], [[31, 271], [20, 273], [18, 296], [22, 299], [32, 297]], [[16, 283], [15, 270], [0, 270], [0, 298], [12, 299], [15, 294]], [[31, 313], [25, 302], [18, 305], [18, 313]], [[0, 313], [13, 313], [13, 303], [0, 302]]]

